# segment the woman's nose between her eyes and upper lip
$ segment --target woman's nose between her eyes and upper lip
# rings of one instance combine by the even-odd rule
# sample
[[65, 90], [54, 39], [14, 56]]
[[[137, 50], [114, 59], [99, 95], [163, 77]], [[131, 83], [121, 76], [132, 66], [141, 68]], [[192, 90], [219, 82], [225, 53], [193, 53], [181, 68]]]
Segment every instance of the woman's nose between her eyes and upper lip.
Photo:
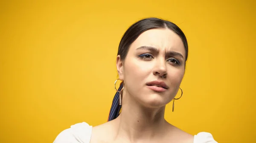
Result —
[[158, 59], [154, 65], [153, 74], [165, 78], [167, 76], [166, 62], [164, 59]]

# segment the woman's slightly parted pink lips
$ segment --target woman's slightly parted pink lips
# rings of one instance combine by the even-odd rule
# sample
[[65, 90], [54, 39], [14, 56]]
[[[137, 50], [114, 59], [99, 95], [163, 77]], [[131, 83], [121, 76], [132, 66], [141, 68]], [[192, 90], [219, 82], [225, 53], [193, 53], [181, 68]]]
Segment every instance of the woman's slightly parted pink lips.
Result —
[[148, 86], [148, 88], [156, 92], [164, 92], [169, 88], [163, 81], [151, 81], [148, 82], [146, 85]]

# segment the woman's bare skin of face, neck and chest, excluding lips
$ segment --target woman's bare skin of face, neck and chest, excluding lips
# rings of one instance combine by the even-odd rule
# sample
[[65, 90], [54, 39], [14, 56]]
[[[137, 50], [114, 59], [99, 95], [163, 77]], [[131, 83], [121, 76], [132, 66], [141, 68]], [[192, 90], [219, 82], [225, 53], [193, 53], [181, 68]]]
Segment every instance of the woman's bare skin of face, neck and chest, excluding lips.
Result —
[[[119, 79], [124, 81], [122, 112], [113, 121], [93, 127], [90, 143], [193, 143], [194, 136], [164, 119], [165, 106], [177, 94], [185, 71], [185, 49], [173, 31], [151, 29], [130, 46], [125, 59], [117, 56]], [[146, 85], [164, 81], [156, 92]]]

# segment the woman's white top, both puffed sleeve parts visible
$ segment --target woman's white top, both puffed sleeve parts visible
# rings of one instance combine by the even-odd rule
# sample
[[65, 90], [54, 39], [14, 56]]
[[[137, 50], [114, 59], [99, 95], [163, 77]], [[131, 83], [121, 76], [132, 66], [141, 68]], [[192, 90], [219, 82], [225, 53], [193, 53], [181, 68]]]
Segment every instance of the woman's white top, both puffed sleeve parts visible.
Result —
[[[53, 143], [90, 143], [92, 126], [85, 122], [72, 125], [69, 129], [62, 131]], [[194, 143], [217, 143], [212, 134], [200, 132], [194, 136]]]

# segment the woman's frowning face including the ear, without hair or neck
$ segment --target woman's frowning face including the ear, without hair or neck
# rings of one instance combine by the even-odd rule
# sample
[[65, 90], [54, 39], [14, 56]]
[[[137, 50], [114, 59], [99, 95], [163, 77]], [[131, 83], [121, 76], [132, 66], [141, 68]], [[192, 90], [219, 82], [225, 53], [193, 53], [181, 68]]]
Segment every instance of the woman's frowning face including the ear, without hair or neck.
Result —
[[[145, 107], [162, 107], [177, 94], [185, 70], [185, 48], [169, 29], [143, 32], [130, 46], [124, 61], [117, 57], [124, 96]], [[125, 100], [125, 97], [124, 97]]]

